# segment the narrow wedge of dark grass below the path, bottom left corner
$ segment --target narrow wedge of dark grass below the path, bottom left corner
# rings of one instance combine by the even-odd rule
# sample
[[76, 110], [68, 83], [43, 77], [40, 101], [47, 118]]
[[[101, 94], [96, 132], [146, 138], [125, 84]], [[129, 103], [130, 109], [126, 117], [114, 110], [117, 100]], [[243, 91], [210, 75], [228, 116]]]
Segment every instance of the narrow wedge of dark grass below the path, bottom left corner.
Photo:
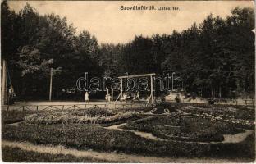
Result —
[[72, 155], [37, 153], [5, 146], [2, 148], [3, 162], [109, 162], [92, 157], [75, 157]]

